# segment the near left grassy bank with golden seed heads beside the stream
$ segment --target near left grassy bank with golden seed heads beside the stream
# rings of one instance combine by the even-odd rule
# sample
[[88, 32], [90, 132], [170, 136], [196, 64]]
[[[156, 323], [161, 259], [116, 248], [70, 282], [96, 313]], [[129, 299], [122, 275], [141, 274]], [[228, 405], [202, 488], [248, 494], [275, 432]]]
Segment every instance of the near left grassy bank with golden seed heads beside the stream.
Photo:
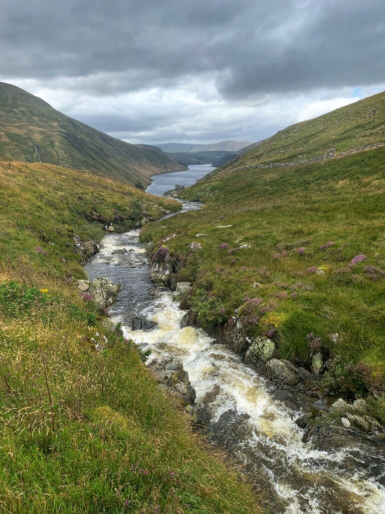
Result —
[[0, 165], [0, 202], [0, 511], [259, 512], [72, 283], [73, 231], [99, 237], [106, 220], [127, 229], [176, 202], [25, 163]]

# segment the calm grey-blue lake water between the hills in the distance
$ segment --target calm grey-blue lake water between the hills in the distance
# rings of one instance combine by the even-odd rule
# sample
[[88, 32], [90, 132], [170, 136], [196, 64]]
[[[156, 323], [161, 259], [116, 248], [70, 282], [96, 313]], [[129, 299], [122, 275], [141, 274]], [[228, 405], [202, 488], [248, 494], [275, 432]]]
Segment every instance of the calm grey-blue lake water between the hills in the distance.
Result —
[[174, 189], [176, 184], [186, 187], [192, 186], [199, 178], [204, 177], [214, 169], [210, 164], [198, 164], [197, 166], [189, 166], [186, 171], [153, 175], [151, 186], [148, 186], [146, 193], [162, 196], [166, 191]]

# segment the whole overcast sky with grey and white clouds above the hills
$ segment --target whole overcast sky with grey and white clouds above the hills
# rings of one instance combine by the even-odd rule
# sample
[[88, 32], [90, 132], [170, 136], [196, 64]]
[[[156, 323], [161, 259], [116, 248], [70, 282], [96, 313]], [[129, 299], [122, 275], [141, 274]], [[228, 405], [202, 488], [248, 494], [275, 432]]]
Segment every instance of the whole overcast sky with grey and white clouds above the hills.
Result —
[[385, 89], [383, 0], [0, 0], [0, 81], [130, 143], [259, 141]]

